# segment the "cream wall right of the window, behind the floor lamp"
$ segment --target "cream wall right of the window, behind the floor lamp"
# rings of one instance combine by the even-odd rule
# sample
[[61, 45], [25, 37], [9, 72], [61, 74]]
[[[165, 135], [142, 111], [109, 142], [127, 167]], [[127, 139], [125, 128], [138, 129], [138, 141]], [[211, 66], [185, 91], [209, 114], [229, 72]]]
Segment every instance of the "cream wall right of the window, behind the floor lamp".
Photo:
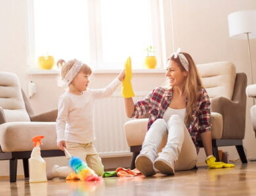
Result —
[[[251, 69], [246, 40], [228, 37], [227, 15], [238, 10], [256, 9], [256, 1], [203, 1], [175, 0], [173, 6], [173, 42], [188, 51], [196, 63], [232, 61], [238, 73], [247, 74], [251, 84]], [[256, 80], [256, 39], [251, 40], [254, 81]], [[244, 148], [247, 157], [256, 157], [256, 139], [251, 126], [249, 108], [253, 100], [247, 99], [247, 118]], [[237, 159], [234, 146], [220, 148], [228, 151], [230, 159]], [[203, 150], [200, 157], [203, 157]]]

